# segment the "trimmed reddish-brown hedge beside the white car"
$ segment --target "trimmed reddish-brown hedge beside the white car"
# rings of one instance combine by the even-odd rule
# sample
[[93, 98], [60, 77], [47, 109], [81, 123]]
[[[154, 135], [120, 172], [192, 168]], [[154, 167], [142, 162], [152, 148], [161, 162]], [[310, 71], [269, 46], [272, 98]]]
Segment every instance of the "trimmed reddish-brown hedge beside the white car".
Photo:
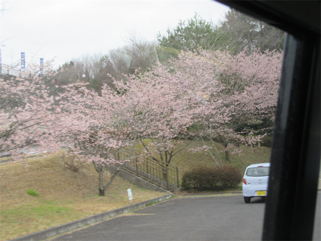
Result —
[[182, 187], [185, 190], [219, 191], [237, 187], [242, 181], [237, 167], [197, 167], [183, 175]]

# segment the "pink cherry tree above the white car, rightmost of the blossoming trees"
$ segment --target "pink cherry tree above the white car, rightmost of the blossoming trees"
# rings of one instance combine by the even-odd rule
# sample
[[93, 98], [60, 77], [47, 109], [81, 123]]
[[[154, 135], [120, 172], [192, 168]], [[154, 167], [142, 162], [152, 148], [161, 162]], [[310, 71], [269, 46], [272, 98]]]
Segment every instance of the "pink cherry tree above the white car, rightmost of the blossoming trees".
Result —
[[266, 118], [274, 122], [281, 66], [281, 53], [261, 53], [256, 49], [249, 56], [245, 52], [233, 56], [220, 75], [221, 90], [210, 101], [222, 101], [218, 109], [225, 118], [218, 118], [215, 132], [217, 140], [224, 144], [227, 161], [229, 143], [253, 146], [268, 131], [262, 133], [264, 130], [254, 130], [250, 125]]

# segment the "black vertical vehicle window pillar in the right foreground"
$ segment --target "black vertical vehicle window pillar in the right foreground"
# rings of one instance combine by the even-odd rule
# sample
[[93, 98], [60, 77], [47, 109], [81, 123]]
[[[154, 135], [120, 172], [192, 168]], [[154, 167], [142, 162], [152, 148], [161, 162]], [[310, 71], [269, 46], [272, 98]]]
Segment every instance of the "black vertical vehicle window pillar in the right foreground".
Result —
[[320, 39], [286, 37], [262, 240], [311, 240], [321, 150]]

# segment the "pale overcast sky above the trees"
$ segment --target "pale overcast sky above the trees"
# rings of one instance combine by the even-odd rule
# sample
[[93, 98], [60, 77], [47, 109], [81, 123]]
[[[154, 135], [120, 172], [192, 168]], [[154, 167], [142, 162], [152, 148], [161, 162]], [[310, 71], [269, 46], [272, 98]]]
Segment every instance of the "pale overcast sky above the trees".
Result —
[[58, 66], [83, 54], [107, 54], [126, 45], [130, 33], [153, 41], [195, 13], [217, 23], [228, 11], [210, 0], [1, 0], [1, 5], [2, 63], [20, 64], [25, 52], [26, 68], [40, 58], [54, 58]]

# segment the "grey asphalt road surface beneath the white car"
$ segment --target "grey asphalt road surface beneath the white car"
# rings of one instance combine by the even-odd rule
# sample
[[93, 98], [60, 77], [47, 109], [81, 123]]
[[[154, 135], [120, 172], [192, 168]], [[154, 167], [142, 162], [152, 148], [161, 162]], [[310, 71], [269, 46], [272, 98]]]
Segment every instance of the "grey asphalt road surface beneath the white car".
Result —
[[[321, 240], [321, 196], [318, 193], [313, 240]], [[261, 240], [264, 199], [243, 196], [177, 198], [129, 215], [63, 234], [61, 241], [236, 241]]]

